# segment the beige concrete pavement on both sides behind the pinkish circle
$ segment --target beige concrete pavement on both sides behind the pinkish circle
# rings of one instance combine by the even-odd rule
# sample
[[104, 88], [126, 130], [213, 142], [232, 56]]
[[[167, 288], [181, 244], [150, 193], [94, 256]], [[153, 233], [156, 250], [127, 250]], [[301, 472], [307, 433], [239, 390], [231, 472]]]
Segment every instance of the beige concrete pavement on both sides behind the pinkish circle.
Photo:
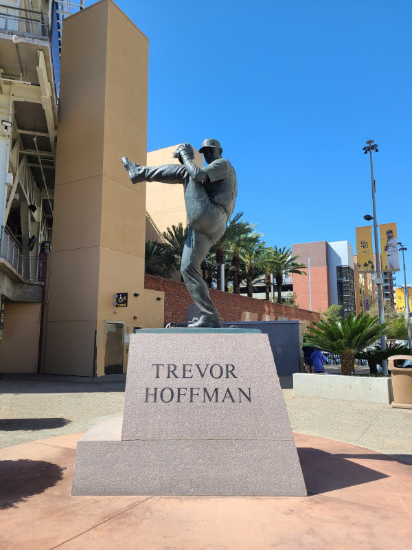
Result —
[[[125, 382], [126, 375], [3, 375], [0, 448], [85, 432], [121, 415]], [[280, 382], [294, 432], [352, 443], [412, 463], [412, 410], [293, 397], [292, 377], [281, 376]]]

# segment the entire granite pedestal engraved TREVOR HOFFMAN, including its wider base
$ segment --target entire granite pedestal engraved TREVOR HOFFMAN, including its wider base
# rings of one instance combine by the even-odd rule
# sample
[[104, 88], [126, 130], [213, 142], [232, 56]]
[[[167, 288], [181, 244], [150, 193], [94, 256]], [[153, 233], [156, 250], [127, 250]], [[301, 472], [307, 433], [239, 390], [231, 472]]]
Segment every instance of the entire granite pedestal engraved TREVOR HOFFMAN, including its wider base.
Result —
[[268, 337], [130, 335], [124, 416], [80, 439], [72, 494], [306, 495]]

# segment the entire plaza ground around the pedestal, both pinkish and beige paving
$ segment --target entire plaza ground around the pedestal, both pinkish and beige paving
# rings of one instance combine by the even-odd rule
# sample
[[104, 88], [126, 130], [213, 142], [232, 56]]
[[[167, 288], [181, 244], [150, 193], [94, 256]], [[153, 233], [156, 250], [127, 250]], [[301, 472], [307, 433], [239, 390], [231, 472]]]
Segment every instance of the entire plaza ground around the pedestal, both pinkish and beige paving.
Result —
[[78, 432], [122, 413], [124, 378], [5, 375], [1, 550], [412, 550], [412, 410], [293, 398], [290, 377], [308, 496], [71, 496]]

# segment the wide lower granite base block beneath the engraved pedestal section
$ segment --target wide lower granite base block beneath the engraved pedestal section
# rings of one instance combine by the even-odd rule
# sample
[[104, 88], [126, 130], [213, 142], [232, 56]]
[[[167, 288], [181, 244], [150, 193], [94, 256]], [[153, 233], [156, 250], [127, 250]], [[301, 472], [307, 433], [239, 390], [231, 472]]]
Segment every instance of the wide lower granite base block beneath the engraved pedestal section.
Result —
[[306, 496], [293, 439], [122, 440], [122, 420], [80, 439], [71, 494]]

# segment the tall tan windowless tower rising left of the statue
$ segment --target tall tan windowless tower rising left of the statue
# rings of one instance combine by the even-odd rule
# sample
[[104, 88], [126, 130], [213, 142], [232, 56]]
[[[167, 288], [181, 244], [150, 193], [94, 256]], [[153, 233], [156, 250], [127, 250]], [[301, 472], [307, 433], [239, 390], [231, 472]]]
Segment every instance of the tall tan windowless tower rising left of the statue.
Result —
[[[148, 39], [111, 0], [65, 19], [64, 36], [45, 372], [90, 376], [98, 330], [103, 375], [104, 320], [145, 322], [133, 293], [144, 295], [146, 184], [121, 159], [146, 164]], [[117, 292], [128, 307], [113, 307]]]

